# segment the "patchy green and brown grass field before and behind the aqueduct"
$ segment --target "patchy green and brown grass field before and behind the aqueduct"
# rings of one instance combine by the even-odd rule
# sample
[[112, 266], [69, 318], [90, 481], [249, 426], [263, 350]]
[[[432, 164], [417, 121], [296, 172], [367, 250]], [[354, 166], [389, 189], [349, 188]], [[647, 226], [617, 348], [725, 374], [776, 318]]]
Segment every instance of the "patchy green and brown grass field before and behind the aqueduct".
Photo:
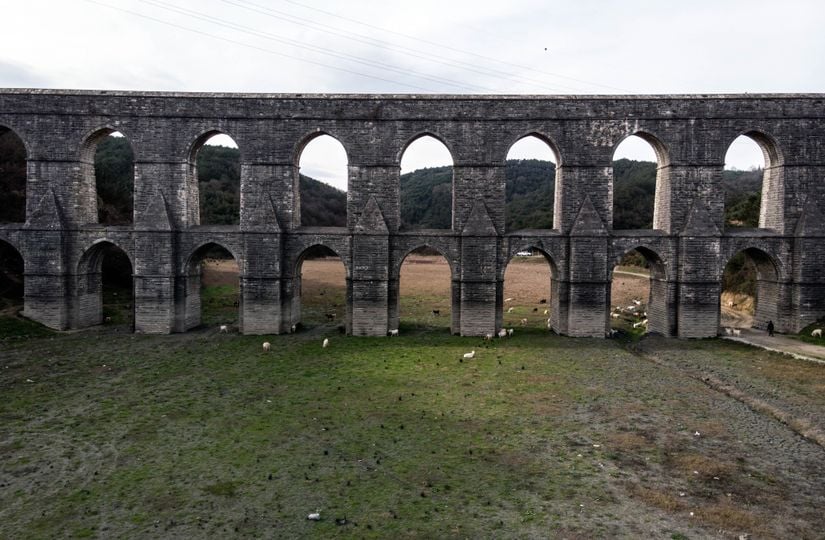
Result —
[[298, 333], [221, 334], [214, 270], [186, 334], [0, 318], [0, 538], [822, 538], [823, 365], [553, 335], [532, 261], [508, 268], [535, 320], [512, 339], [440, 330], [426, 260], [398, 338], [339, 334], [331, 260], [305, 263]]

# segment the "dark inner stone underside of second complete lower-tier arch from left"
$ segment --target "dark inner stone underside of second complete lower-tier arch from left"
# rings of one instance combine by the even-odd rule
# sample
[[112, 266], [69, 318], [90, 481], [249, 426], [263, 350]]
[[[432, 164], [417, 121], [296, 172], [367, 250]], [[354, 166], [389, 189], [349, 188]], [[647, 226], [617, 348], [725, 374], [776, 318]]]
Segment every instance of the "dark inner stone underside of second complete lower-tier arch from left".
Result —
[[[243, 330], [243, 320], [241, 317], [241, 314], [243, 313], [243, 295], [241, 294], [240, 290], [240, 277], [242, 268], [241, 259], [236, 255], [236, 253], [232, 250], [231, 247], [212, 239], [199, 242], [195, 247], [193, 247], [180, 268], [179, 287], [182, 290], [184, 296], [182, 302], [184, 309], [184, 330], [189, 330], [191, 328], [195, 328], [196, 326], [200, 326], [203, 322], [203, 303], [201, 298], [203, 276], [201, 263], [204, 261], [209, 250], [215, 248], [228, 253], [234, 260], [238, 269], [238, 290], [234, 295], [228, 293], [221, 295], [221, 297], [217, 298], [216, 303], [219, 304], [218, 309], [222, 311], [227, 311], [226, 309], [222, 308], [225, 308], [225, 304], [227, 304], [228, 302], [232, 302], [233, 307], [237, 308], [238, 312], [237, 323], [239, 326], [241, 326], [241, 330]], [[207, 324], [232, 323], [232, 321], [229, 320], [229, 317], [226, 317], [225, 319], [226, 320], [221, 319], [220, 321], [209, 320], [207, 321]]]

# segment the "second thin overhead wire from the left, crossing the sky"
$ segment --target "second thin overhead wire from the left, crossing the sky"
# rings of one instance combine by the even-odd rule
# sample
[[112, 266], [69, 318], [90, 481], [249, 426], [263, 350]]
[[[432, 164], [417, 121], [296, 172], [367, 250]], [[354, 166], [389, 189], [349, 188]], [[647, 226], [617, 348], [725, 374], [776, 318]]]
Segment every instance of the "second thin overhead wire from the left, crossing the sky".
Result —
[[396, 66], [393, 66], [391, 64], [387, 64], [387, 63], [384, 63], [384, 62], [369, 60], [369, 59], [365, 59], [363, 57], [359, 57], [359, 56], [355, 56], [355, 55], [351, 55], [351, 54], [347, 54], [347, 53], [339, 53], [339, 52], [336, 52], [332, 49], [328, 49], [328, 48], [325, 48], [325, 47], [320, 47], [320, 46], [317, 46], [317, 45], [306, 45], [306, 44], [303, 44], [301, 42], [298, 42], [298, 41], [295, 41], [295, 40], [292, 40], [292, 39], [280, 37], [276, 34], [272, 34], [272, 33], [269, 33], [269, 32], [261, 32], [259, 30], [254, 29], [254, 28], [251, 28], [249, 26], [243, 26], [243, 25], [240, 25], [240, 24], [227, 22], [223, 19], [213, 17], [211, 15], [206, 15], [206, 14], [204, 14], [202, 12], [199, 12], [199, 11], [186, 9], [186, 8], [181, 8], [181, 7], [169, 4], [167, 2], [163, 2], [161, 0], [140, 0], [140, 1], [143, 2], [144, 4], [148, 4], [148, 5], [160, 8], [160, 9], [164, 9], [166, 11], [171, 11], [173, 13], [178, 13], [180, 15], [184, 15], [184, 16], [187, 16], [187, 17], [191, 17], [191, 18], [202, 20], [202, 21], [206, 21], [208, 23], [215, 24], [215, 25], [218, 25], [218, 26], [222, 26], [224, 28], [230, 28], [232, 30], [236, 30], [238, 32], [249, 34], [249, 35], [252, 35], [252, 36], [255, 36], [255, 37], [267, 39], [267, 40], [270, 40], [270, 41], [275, 41], [275, 42], [278, 42], [278, 43], [283, 43], [283, 44], [286, 44], [286, 45], [290, 45], [292, 47], [296, 47], [296, 48], [304, 49], [304, 50], [309, 50], [309, 51], [316, 52], [316, 53], [319, 53], [319, 54], [324, 54], [324, 55], [327, 55], [327, 56], [332, 56], [334, 58], [348, 60], [350, 62], [355, 62], [357, 64], [362, 64], [362, 65], [365, 65], [365, 66], [368, 66], [368, 67], [379, 68], [379, 69], [382, 69], [382, 70], [385, 70], [385, 71], [392, 71], [392, 72], [398, 73], [400, 75], [414, 75], [415, 77], [418, 77], [418, 78], [423, 79], [423, 80], [428, 80], [428, 81], [435, 82], [435, 83], [438, 83], [438, 84], [442, 84], [442, 85], [446, 85], [446, 86], [452, 86], [454, 88], [459, 88], [459, 89], [464, 89], [464, 90], [483, 90], [483, 91], [487, 91], [487, 92], [496, 92], [496, 90], [493, 89], [493, 88], [489, 88], [489, 87], [485, 87], [485, 86], [481, 86], [481, 85], [467, 84], [467, 83], [463, 83], [463, 82], [460, 82], [460, 81], [456, 81], [454, 79], [448, 79], [446, 77], [438, 77], [438, 76], [434, 76], [434, 75], [428, 75], [426, 73], [422, 73], [422, 72], [415, 71], [415, 70], [401, 69], [401, 68], [398, 68]]

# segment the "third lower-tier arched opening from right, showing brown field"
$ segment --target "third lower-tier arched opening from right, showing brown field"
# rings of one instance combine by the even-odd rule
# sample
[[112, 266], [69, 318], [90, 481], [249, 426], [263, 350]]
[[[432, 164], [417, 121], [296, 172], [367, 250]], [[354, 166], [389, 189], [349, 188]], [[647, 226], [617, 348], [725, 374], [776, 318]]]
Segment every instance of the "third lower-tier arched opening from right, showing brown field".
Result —
[[507, 263], [502, 287], [502, 328], [557, 328], [556, 263], [536, 247], [519, 249]]

